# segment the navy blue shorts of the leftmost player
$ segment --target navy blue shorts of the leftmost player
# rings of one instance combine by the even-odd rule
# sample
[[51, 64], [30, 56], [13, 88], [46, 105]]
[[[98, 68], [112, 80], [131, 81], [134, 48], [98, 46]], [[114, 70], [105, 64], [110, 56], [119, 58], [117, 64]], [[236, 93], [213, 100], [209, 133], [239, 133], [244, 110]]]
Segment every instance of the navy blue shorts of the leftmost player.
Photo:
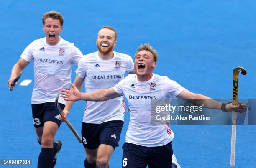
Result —
[[[60, 107], [64, 109], [65, 105], [59, 103]], [[61, 120], [59, 119], [59, 112], [55, 107], [55, 103], [46, 102], [41, 104], [32, 104], [32, 115], [34, 121], [34, 127], [43, 127], [46, 121], [52, 121], [61, 125]]]

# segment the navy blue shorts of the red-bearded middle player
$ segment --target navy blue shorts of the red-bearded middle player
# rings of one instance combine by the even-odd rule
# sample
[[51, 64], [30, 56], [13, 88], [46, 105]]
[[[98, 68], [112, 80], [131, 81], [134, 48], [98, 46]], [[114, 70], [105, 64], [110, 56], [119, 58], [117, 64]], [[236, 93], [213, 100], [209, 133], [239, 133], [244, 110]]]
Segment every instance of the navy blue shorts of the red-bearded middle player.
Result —
[[97, 149], [100, 144], [118, 146], [123, 121], [115, 120], [101, 124], [82, 123], [82, 139], [84, 148]]

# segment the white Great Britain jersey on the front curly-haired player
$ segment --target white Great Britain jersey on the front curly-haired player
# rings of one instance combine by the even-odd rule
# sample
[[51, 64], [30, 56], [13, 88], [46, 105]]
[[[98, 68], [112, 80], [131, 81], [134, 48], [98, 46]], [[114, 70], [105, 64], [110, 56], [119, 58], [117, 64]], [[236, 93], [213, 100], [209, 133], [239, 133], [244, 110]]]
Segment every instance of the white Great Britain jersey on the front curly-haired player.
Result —
[[183, 87], [167, 76], [153, 74], [142, 82], [136, 74], [130, 74], [114, 89], [129, 102], [131, 116], [125, 142], [152, 147], [172, 141], [174, 133], [169, 125], [151, 125], [151, 99], [172, 99], [185, 90]]

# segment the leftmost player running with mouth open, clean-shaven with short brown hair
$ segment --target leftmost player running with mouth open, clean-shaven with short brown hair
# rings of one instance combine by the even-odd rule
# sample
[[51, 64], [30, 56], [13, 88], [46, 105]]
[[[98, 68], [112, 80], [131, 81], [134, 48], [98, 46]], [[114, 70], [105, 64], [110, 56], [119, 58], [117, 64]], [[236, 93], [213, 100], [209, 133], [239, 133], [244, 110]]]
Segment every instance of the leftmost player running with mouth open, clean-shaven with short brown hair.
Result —
[[[72, 64], [78, 64], [81, 51], [73, 43], [59, 36], [64, 19], [58, 12], [50, 11], [43, 15], [45, 38], [29, 44], [20, 60], [13, 66], [8, 85], [13, 89], [12, 81], [32, 60], [34, 62], [34, 82], [32, 93], [32, 114], [38, 143], [42, 146], [38, 157], [38, 168], [51, 168], [61, 149], [61, 141], [54, 137], [61, 125], [59, 113], [54, 106], [55, 96], [61, 89], [68, 89], [71, 83]], [[66, 101], [59, 99], [64, 108]]]

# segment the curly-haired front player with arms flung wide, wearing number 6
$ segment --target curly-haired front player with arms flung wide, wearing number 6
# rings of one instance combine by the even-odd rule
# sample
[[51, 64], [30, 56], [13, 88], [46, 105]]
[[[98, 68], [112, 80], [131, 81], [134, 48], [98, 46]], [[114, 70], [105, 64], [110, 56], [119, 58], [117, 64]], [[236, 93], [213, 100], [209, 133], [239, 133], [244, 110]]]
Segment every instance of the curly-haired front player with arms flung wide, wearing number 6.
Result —
[[[172, 139], [174, 133], [169, 125], [151, 125], [151, 99], [210, 99], [195, 94], [167, 76], [153, 74], [158, 59], [157, 52], [148, 44], [141, 45], [135, 54], [136, 74], [130, 74], [115, 87], [99, 89], [91, 93], [62, 90], [65, 100], [108, 101], [124, 95], [129, 102], [131, 118], [123, 145], [123, 168], [171, 168]], [[143, 97], [143, 99], [142, 99]], [[205, 107], [223, 109], [228, 112], [245, 109], [245, 104], [237, 106], [217, 101], [205, 103]]]

